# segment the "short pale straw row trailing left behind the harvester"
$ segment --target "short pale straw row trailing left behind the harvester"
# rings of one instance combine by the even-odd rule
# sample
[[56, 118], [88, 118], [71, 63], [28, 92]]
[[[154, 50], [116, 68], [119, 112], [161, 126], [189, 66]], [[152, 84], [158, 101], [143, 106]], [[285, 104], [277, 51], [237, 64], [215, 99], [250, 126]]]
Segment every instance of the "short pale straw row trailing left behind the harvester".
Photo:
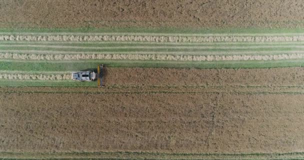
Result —
[[0, 79], [28, 79], [28, 80], [66, 80], [70, 79], [70, 74], [10, 74], [0, 73]]

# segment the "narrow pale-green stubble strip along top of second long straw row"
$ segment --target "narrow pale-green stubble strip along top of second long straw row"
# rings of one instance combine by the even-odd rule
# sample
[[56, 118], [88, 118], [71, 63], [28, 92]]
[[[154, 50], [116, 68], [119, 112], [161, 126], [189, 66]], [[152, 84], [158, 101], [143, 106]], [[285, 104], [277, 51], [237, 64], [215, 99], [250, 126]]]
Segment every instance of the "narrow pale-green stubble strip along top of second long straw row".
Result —
[[255, 50], [255, 51], [61, 51], [61, 50], [16, 50], [0, 49], [2, 53], [27, 54], [155, 54], [155, 55], [275, 55], [275, 54], [301, 54], [304, 50]]

